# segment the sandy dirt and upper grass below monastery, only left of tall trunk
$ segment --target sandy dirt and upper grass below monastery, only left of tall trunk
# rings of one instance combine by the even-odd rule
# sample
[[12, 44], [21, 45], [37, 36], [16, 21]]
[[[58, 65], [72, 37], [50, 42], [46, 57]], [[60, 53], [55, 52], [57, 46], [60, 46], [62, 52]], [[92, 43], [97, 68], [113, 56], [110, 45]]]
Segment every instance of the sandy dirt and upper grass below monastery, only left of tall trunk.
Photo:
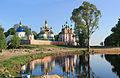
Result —
[[85, 48], [62, 47], [55, 45], [22, 45], [19, 49], [2, 50], [0, 53], [0, 61], [4, 61], [14, 56], [24, 56], [35, 53], [52, 53], [52, 54], [71, 54], [81, 53]]

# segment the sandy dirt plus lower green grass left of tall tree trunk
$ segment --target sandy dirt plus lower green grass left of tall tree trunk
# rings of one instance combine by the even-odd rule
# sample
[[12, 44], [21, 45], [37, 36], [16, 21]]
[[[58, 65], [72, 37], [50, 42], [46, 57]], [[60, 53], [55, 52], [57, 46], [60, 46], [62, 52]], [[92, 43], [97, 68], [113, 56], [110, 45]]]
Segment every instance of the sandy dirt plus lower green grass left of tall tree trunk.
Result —
[[21, 66], [35, 59], [53, 55], [57, 56], [72, 54], [83, 54], [83, 52], [80, 52], [80, 50], [77, 49], [55, 47], [2, 50], [0, 53], [0, 77], [20, 77]]

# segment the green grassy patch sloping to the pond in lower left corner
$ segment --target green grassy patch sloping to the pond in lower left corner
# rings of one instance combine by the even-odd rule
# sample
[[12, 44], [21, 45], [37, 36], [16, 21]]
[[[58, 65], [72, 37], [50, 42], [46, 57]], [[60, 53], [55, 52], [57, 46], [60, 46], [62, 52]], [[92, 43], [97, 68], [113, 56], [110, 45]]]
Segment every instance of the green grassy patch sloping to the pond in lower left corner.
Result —
[[20, 70], [22, 65], [29, 63], [34, 59], [44, 58], [45, 56], [49, 55], [51, 54], [37, 53], [26, 56], [16, 56], [5, 61], [0, 61], [0, 78], [4, 78], [4, 76], [8, 75], [20, 77]]

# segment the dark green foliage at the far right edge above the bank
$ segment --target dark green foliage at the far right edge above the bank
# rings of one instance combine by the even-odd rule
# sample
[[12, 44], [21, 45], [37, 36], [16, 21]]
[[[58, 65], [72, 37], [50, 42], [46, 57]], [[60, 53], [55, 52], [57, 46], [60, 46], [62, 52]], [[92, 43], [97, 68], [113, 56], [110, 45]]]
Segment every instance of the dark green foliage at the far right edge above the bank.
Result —
[[120, 46], [120, 19], [112, 29], [112, 34], [105, 38], [105, 46]]

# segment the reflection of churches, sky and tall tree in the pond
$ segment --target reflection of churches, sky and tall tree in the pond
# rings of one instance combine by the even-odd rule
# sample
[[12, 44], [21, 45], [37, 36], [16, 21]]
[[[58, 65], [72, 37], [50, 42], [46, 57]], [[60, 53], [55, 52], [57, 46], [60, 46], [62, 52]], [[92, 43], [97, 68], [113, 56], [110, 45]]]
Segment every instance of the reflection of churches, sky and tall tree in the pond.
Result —
[[90, 68], [90, 55], [48, 56], [24, 65], [22, 73], [57, 74], [67, 78], [95, 78]]

